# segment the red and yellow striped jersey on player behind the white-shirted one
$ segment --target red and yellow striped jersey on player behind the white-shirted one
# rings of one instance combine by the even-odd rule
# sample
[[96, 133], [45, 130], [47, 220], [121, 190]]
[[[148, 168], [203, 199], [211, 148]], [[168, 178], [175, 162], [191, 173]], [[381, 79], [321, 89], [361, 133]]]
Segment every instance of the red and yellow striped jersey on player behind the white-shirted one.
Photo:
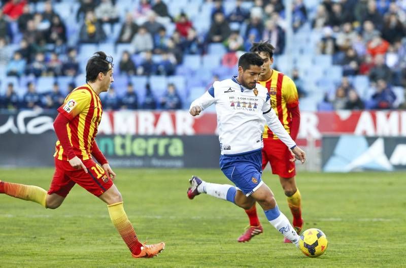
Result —
[[[275, 110], [282, 125], [290, 134], [292, 116], [288, 108], [295, 107], [299, 104], [299, 97], [295, 83], [288, 76], [281, 72], [273, 70], [272, 76], [266, 81], [258, 81], [259, 84], [266, 87], [270, 96], [270, 105]], [[266, 139], [273, 137], [278, 139], [276, 135], [265, 125], [262, 138]]]

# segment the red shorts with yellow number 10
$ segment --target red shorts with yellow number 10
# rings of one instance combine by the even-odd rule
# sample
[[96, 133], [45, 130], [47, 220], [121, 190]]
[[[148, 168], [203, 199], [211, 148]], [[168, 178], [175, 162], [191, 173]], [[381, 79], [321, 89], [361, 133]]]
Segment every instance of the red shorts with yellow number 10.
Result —
[[85, 173], [83, 169], [77, 170], [72, 168], [68, 161], [55, 158], [55, 173], [48, 194], [56, 193], [66, 197], [77, 183], [98, 197], [113, 185], [113, 181], [104, 169], [92, 159], [85, 160], [83, 163], [88, 173]]

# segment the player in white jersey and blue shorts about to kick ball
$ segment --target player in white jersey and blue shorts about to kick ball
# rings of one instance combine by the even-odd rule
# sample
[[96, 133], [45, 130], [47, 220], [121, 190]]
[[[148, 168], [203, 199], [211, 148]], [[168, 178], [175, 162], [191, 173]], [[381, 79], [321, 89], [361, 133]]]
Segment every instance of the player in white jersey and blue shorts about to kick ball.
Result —
[[296, 159], [304, 163], [306, 153], [296, 146], [271, 108], [268, 90], [257, 84], [262, 64], [262, 58], [256, 53], [243, 54], [238, 63], [238, 76], [214, 82], [205, 94], [190, 105], [192, 116], [199, 115], [212, 104], [216, 105], [220, 168], [236, 187], [205, 182], [193, 176], [189, 180], [187, 195], [193, 199], [200, 193], [207, 193], [243, 209], [249, 209], [257, 202], [270, 224], [297, 246], [298, 234], [279, 210], [272, 191], [261, 180], [265, 122], [292, 150]]

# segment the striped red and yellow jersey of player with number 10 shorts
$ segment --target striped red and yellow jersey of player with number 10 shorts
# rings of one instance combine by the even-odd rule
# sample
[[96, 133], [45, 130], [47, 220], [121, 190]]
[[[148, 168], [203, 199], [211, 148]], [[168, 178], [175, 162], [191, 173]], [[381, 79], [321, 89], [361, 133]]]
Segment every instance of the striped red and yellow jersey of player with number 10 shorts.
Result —
[[[81, 160], [91, 159], [94, 137], [103, 113], [98, 95], [88, 84], [77, 87], [66, 96], [58, 112], [70, 120], [66, 124], [66, 130], [76, 156]], [[69, 160], [59, 141], [56, 142], [55, 149], [54, 157]]]

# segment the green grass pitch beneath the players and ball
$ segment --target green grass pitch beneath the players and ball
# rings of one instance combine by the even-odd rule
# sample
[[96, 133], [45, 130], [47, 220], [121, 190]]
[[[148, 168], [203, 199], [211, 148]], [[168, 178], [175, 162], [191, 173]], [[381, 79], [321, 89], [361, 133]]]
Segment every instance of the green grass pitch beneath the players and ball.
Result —
[[[404, 173], [299, 173], [304, 228], [319, 228], [328, 249], [308, 258], [258, 210], [264, 233], [239, 244], [244, 211], [212, 196], [186, 196], [195, 174], [229, 183], [220, 170], [117, 169], [115, 181], [139, 239], [164, 241], [153, 259], [133, 259], [106, 205], [75, 186], [57, 210], [0, 194], [0, 267], [381, 267], [406, 266]], [[0, 170], [0, 179], [48, 189], [52, 169]], [[277, 177], [266, 171], [291, 219]]]

